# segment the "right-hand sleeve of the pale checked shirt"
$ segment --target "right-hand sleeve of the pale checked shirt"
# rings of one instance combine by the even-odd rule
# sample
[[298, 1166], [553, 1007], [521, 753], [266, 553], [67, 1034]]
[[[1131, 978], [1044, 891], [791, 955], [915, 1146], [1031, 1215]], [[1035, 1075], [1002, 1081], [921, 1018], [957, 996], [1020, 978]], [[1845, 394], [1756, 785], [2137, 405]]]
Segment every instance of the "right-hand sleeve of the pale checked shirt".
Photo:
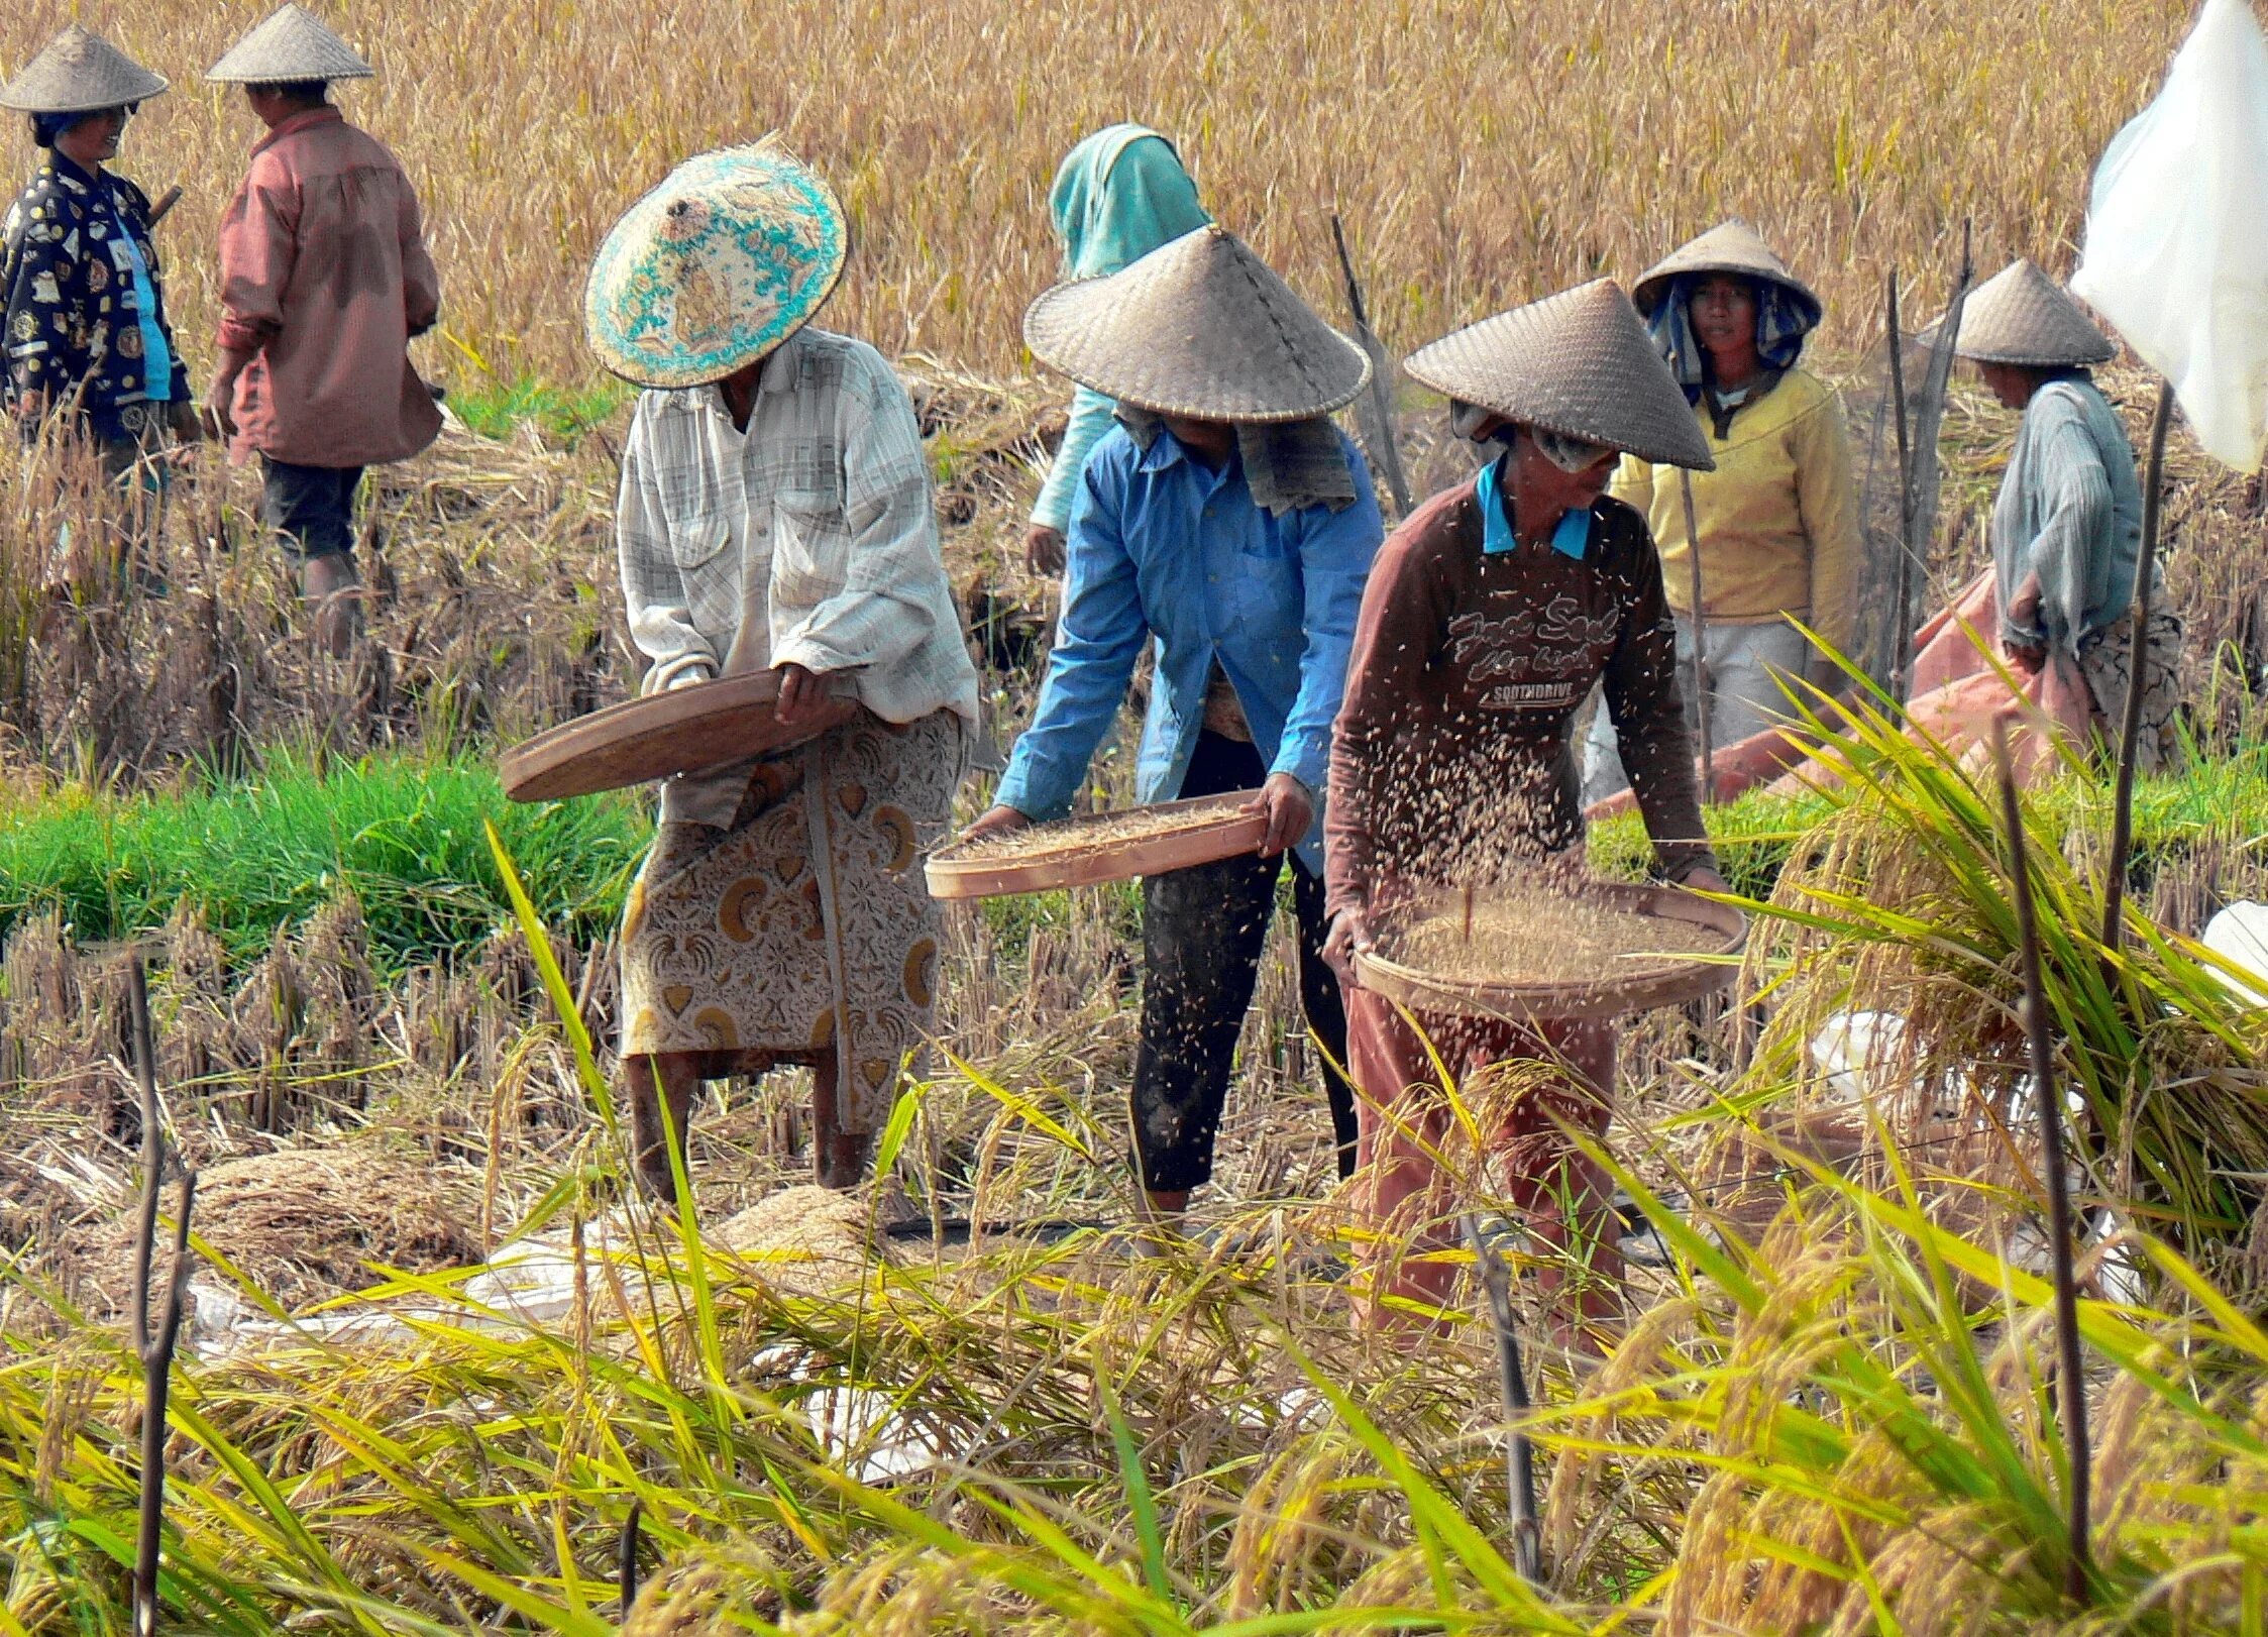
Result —
[[844, 585], [780, 633], [773, 664], [807, 671], [889, 667], [930, 642], [937, 628], [930, 592], [943, 578], [943, 549], [914, 404], [887, 365], [855, 367], [837, 408], [850, 528]]

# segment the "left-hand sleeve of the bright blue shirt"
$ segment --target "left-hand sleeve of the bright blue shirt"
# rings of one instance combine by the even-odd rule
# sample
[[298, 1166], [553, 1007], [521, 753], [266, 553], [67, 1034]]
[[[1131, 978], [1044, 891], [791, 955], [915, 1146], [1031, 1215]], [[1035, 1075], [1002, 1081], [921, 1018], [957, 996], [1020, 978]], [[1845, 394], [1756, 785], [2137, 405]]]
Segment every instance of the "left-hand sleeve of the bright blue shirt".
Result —
[[993, 796], [1027, 818], [1061, 818], [1070, 812], [1086, 764], [1134, 678], [1143, 637], [1150, 635], [1134, 558], [1118, 528], [1118, 476], [1116, 469], [1098, 472], [1089, 465], [1080, 478], [1064, 565], [1064, 612], [1048, 658], [1048, 680]]

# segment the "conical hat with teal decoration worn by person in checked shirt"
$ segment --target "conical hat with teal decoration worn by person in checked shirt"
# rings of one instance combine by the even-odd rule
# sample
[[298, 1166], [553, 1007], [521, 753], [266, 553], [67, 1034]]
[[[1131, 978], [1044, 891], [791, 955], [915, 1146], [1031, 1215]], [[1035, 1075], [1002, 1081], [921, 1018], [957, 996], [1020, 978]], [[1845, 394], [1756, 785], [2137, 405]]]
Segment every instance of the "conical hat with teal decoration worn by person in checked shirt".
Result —
[[844, 274], [835, 193], [771, 138], [696, 154], [615, 222], [583, 292], [599, 361], [637, 385], [721, 381], [794, 336]]

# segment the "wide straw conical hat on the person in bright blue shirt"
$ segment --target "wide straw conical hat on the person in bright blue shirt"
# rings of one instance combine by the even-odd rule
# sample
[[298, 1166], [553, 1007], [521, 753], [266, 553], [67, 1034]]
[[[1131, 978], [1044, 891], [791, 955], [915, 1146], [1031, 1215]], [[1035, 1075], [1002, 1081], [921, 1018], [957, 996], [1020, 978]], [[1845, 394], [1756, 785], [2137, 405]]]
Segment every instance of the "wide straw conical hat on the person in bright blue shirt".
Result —
[[1023, 315], [1023, 340], [1080, 385], [1191, 419], [1313, 419], [1370, 381], [1363, 349], [1218, 224], [1055, 286]]

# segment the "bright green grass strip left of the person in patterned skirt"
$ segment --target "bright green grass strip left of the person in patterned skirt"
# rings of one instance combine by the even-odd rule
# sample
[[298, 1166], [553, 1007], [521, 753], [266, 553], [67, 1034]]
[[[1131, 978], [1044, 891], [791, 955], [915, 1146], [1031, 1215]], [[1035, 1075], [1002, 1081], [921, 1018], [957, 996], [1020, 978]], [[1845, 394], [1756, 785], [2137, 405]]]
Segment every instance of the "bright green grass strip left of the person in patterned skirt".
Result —
[[483, 821], [578, 939], [621, 916], [653, 832], [633, 796], [522, 807], [485, 762], [415, 755], [322, 771], [274, 757], [245, 782], [141, 796], [66, 789], [0, 805], [0, 941], [43, 909], [82, 941], [125, 939], [188, 900], [231, 955], [256, 955], [279, 925], [354, 893], [374, 959], [447, 959], [513, 918]]

